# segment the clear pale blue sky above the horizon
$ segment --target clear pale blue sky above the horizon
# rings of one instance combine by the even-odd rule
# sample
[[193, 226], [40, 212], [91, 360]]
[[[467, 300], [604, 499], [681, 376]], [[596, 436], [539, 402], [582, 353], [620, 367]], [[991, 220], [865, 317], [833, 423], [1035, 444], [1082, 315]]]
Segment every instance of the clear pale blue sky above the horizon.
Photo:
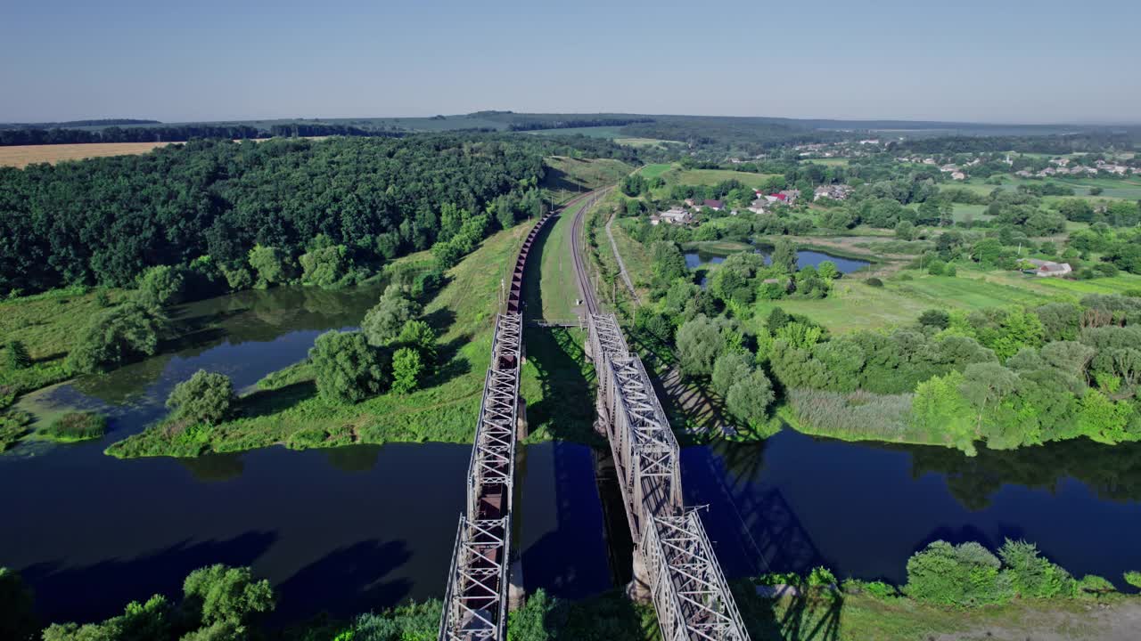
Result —
[[0, 121], [1141, 122], [1138, 0], [5, 0], [0, 16]]

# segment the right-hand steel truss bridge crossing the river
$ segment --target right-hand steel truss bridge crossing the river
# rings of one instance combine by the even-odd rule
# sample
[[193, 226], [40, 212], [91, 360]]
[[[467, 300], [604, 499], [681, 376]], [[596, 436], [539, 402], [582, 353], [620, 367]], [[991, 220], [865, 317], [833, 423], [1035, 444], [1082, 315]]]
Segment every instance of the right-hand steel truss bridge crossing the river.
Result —
[[646, 368], [612, 315], [588, 318], [606, 430], [666, 641], [747, 641], [701, 519], [681, 506], [679, 447]]

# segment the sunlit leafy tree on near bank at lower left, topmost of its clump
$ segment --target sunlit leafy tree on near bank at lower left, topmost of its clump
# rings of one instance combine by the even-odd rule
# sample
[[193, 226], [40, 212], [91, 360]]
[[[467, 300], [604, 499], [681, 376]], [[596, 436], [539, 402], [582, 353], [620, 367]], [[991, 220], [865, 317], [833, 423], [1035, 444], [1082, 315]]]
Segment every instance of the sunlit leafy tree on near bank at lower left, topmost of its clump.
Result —
[[266, 579], [254, 581], [250, 568], [218, 563], [196, 569], [183, 582], [183, 594], [184, 609], [207, 626], [249, 625], [274, 609], [273, 587]]

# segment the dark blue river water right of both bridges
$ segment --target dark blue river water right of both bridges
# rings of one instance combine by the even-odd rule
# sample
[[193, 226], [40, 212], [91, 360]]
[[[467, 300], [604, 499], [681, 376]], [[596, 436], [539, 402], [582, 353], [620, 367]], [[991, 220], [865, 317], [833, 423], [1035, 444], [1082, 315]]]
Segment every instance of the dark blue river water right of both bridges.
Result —
[[1141, 567], [1141, 446], [1070, 441], [966, 457], [784, 431], [682, 452], [682, 484], [726, 574], [808, 570], [906, 581], [932, 541], [1038, 544], [1075, 575], [1124, 587]]

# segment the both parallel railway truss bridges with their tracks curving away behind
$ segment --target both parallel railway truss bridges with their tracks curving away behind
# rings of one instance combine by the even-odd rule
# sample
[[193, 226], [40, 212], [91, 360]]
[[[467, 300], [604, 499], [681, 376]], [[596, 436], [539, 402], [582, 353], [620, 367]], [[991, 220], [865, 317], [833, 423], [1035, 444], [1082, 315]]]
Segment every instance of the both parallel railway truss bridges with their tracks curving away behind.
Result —
[[[568, 206], [599, 196], [585, 194]], [[678, 441], [649, 376], [626, 347], [615, 317], [600, 313], [586, 277], [580, 237], [586, 209], [580, 208], [575, 217], [572, 253], [588, 311], [586, 352], [598, 372], [596, 429], [609, 441], [636, 545], [631, 595], [654, 602], [665, 641], [747, 640], [702, 521], [682, 505]], [[444, 595], [440, 641], [507, 639], [516, 444], [526, 429], [519, 398], [523, 281], [535, 237], [552, 216], [543, 216], [524, 241], [502, 313], [495, 318], [492, 362], [468, 465], [467, 509], [460, 516]]]

